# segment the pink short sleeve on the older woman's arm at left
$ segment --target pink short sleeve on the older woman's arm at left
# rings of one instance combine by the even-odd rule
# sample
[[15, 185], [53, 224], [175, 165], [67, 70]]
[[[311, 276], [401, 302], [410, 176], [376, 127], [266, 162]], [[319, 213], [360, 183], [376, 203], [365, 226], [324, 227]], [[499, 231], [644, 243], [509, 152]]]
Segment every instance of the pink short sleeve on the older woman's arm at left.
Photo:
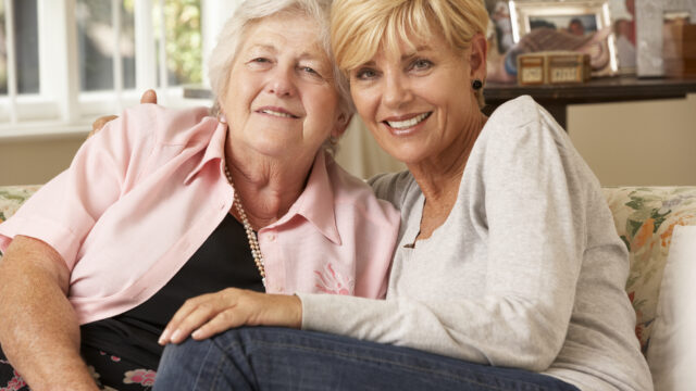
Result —
[[102, 213], [127, 191], [147, 157], [142, 152], [153, 133], [138, 130], [152, 125], [150, 112], [140, 106], [126, 111], [89, 138], [66, 171], [0, 225], [0, 250], [4, 252], [17, 235], [36, 238], [58, 251], [72, 270], [82, 242]]

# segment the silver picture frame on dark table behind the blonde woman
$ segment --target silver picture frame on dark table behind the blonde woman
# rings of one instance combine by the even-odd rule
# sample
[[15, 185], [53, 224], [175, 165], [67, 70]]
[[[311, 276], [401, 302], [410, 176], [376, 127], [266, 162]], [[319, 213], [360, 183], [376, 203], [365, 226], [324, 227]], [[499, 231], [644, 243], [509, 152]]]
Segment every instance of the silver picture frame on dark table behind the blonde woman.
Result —
[[593, 76], [612, 76], [618, 73], [609, 0], [510, 0], [509, 10], [512, 39], [515, 43], [539, 27], [546, 27], [547, 30], [564, 30], [575, 36], [588, 36], [600, 31], [602, 38], [593, 50], [602, 51], [600, 54], [606, 61], [593, 70]]

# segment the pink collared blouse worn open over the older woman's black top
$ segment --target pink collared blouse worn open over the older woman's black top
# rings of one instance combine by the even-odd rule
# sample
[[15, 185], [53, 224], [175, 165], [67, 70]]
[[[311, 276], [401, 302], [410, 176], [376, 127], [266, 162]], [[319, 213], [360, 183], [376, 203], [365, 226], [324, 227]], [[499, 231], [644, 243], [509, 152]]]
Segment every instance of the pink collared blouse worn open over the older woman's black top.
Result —
[[[126, 110], [0, 225], [0, 250], [15, 235], [55, 249], [71, 270], [69, 299], [80, 324], [141, 304], [232, 206], [222, 166], [226, 127], [207, 115], [204, 108]], [[319, 152], [288, 213], [259, 231], [266, 291], [383, 298], [399, 220]]]

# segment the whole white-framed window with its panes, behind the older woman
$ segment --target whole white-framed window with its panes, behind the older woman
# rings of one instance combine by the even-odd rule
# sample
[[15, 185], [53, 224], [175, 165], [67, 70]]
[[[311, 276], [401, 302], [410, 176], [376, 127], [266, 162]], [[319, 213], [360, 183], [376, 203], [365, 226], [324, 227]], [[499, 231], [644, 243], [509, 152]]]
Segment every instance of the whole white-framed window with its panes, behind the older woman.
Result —
[[201, 104], [183, 87], [206, 81], [203, 53], [237, 2], [0, 0], [0, 138], [86, 131], [147, 88]]

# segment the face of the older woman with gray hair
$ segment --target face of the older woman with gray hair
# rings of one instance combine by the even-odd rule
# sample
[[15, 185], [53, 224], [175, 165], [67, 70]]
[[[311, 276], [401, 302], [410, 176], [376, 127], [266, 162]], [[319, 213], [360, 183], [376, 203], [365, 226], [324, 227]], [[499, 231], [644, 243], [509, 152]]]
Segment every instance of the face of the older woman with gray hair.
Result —
[[248, 28], [221, 99], [233, 146], [311, 159], [340, 135], [332, 63], [318, 36], [312, 20], [288, 13]]

